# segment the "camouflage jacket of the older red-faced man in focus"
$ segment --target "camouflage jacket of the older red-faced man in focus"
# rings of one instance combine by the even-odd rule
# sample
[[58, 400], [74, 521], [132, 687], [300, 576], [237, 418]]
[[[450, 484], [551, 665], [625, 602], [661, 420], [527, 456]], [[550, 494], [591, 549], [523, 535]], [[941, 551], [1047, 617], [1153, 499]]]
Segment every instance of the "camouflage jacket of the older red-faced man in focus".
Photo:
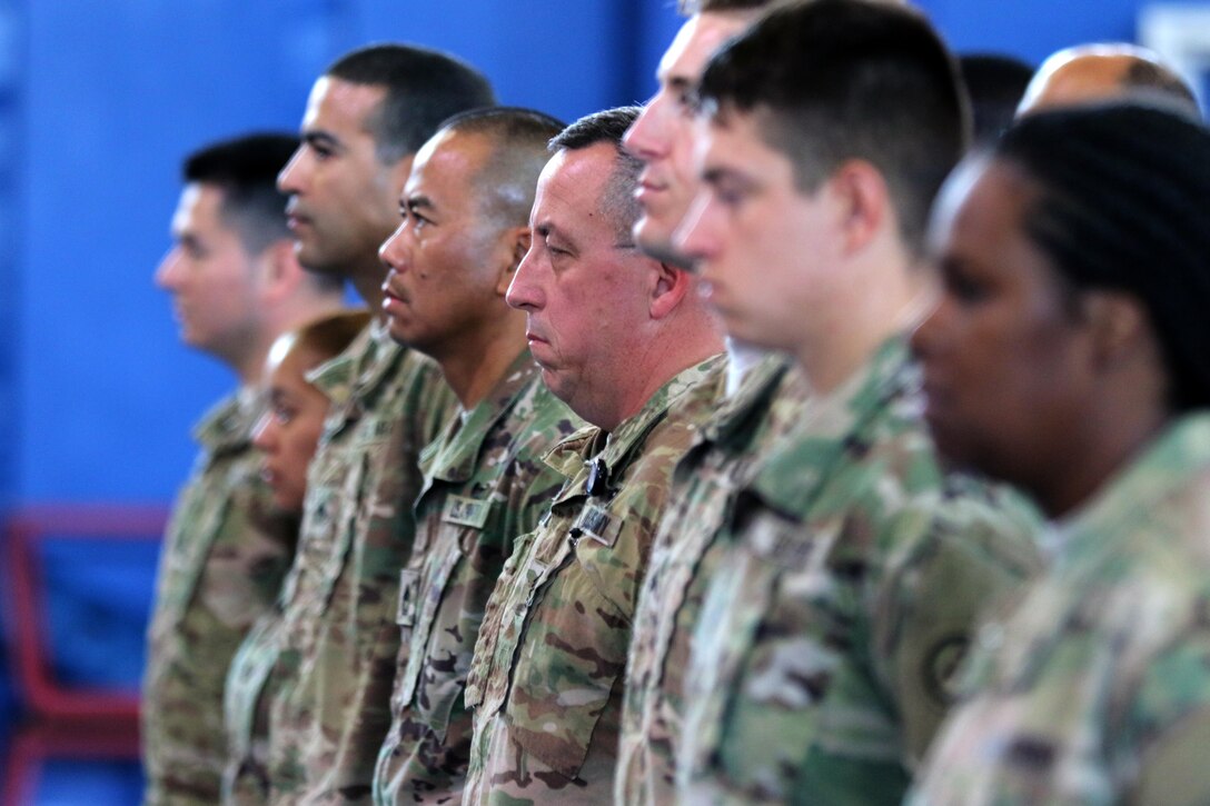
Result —
[[612, 796], [622, 677], [639, 586], [676, 461], [716, 397], [715, 356], [613, 430], [583, 428], [546, 461], [566, 479], [488, 601], [466, 702], [467, 804]]

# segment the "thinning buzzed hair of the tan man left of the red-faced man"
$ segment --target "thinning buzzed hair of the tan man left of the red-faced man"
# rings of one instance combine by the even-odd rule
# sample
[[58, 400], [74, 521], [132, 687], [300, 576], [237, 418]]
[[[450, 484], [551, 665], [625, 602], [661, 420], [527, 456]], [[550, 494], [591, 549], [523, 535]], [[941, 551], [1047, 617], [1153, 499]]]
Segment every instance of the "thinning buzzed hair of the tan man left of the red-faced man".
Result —
[[491, 143], [491, 155], [474, 177], [479, 209], [499, 226], [517, 226], [529, 221], [538, 174], [551, 157], [547, 143], [564, 126], [534, 109], [492, 106], [460, 113], [439, 131], [474, 134]]

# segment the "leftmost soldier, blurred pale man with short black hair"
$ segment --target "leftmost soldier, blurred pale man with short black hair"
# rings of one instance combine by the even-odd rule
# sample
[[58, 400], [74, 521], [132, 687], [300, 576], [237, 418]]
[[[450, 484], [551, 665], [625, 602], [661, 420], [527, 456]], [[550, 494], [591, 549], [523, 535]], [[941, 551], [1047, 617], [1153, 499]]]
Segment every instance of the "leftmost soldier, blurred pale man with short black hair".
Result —
[[182, 340], [229, 365], [240, 388], [196, 427], [201, 453], [165, 535], [143, 680], [146, 804], [218, 802], [227, 664], [289, 568], [293, 524], [273, 512], [252, 445], [261, 374], [278, 335], [342, 306], [340, 283], [294, 258], [273, 183], [296, 145], [252, 134], [192, 154], [177, 243], [155, 275]]

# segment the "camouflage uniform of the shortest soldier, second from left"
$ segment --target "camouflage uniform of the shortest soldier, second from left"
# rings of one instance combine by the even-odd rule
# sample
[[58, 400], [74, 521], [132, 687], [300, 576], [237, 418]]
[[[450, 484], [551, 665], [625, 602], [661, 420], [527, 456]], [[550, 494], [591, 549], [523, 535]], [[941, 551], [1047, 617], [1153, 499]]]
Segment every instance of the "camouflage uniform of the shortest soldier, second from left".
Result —
[[282, 637], [282, 614], [273, 608], [257, 620], [227, 669], [223, 718], [227, 761], [223, 771], [226, 806], [269, 800], [269, 691]]

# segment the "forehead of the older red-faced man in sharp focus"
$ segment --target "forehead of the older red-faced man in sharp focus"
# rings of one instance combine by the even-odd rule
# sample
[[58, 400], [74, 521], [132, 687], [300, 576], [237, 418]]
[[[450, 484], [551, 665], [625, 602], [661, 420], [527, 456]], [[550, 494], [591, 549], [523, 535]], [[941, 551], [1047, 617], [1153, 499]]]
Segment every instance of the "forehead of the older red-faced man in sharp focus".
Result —
[[534, 226], [552, 226], [563, 232], [606, 234], [615, 228], [601, 201], [617, 162], [612, 143], [586, 149], [564, 149], [551, 157], [537, 180]]

